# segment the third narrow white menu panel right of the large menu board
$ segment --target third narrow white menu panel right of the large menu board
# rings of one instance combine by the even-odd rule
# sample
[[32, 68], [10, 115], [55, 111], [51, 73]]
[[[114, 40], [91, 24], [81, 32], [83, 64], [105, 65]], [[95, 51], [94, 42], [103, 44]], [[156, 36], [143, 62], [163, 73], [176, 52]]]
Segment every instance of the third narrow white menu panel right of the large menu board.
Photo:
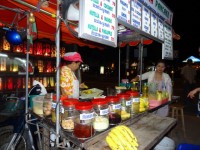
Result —
[[145, 6], [142, 8], [142, 31], [150, 34], [150, 10]]

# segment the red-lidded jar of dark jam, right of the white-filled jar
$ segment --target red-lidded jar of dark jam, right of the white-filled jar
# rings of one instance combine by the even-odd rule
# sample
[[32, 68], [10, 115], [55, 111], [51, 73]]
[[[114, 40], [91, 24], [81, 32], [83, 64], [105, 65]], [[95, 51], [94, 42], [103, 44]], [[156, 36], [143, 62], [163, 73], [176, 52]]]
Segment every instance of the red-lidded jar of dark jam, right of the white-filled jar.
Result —
[[117, 96], [106, 96], [109, 105], [109, 124], [117, 125], [121, 122], [121, 102]]

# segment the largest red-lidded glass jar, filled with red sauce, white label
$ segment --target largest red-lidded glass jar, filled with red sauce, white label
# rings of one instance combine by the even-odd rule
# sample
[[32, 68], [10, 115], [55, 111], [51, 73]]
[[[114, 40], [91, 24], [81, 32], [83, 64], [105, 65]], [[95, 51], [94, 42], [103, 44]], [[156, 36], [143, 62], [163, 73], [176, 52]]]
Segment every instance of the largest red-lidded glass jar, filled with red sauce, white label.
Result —
[[75, 105], [77, 115], [74, 120], [74, 136], [79, 139], [87, 139], [94, 135], [92, 102], [78, 102]]

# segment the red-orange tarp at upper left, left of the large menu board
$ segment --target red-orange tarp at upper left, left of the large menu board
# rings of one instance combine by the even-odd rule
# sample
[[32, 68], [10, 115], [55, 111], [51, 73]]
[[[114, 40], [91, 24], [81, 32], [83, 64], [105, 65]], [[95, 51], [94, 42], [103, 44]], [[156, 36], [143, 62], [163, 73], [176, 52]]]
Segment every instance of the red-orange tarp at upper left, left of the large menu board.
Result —
[[[39, 0], [23, 0], [23, 2], [27, 2], [28, 4], [37, 7], [39, 4]], [[1, 0], [0, 5], [5, 6], [8, 8], [11, 8], [12, 10], [4, 9], [0, 7], [0, 22], [3, 24], [12, 24], [14, 21], [14, 18], [16, 16], [16, 11], [21, 10], [22, 12], [25, 11], [33, 11], [33, 14], [36, 18], [36, 26], [38, 30], [38, 38], [48, 38], [52, 41], [55, 41], [55, 35], [56, 35], [56, 2], [57, 0], [51, 0], [49, 2], [49, 7], [40, 7], [41, 9], [49, 12], [52, 14], [52, 16], [44, 14], [42, 12], [36, 11], [31, 9], [28, 6], [22, 5], [14, 0]], [[17, 19], [20, 19], [20, 21], [17, 22], [16, 26], [21, 28], [26, 28], [27, 25], [27, 18], [24, 17], [24, 14], [18, 14], [16, 16], [15, 22], [17, 22]], [[78, 44], [79, 46], [88, 46], [90, 48], [103, 48], [103, 45], [100, 45], [98, 43], [82, 40], [79, 38], [74, 37], [71, 32], [67, 29], [66, 25], [62, 22], [61, 23], [61, 40], [64, 41], [67, 44]]]

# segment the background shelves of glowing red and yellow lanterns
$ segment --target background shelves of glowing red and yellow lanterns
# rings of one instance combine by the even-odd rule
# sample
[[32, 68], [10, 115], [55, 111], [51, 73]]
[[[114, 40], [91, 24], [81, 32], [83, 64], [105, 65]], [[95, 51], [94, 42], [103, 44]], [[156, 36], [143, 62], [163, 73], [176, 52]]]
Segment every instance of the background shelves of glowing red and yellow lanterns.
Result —
[[[33, 80], [40, 81], [45, 87], [55, 87], [55, 58], [56, 46], [51, 41], [36, 40], [30, 45], [30, 67], [29, 67], [29, 80], [28, 88], [31, 88]], [[61, 46], [60, 56], [63, 57], [66, 48]], [[25, 72], [22, 70], [19, 62], [14, 59], [17, 56], [25, 59], [27, 52], [27, 42], [21, 45], [10, 45], [5, 37], [1, 38], [0, 42], [0, 91], [25, 89], [25, 76], [18, 75], [18, 72]], [[31, 66], [32, 65], [32, 66]], [[35, 74], [34, 67], [38, 67], [38, 73]], [[25, 75], [25, 74], [24, 74]]]

